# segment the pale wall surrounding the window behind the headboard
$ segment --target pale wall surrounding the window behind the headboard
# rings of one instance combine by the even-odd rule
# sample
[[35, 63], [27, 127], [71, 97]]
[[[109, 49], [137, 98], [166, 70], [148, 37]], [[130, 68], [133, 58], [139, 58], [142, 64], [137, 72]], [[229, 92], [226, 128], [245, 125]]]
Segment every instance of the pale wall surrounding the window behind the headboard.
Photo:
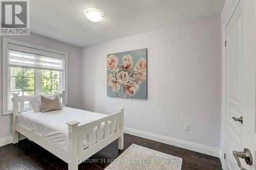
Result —
[[[80, 57], [81, 48], [55, 41], [36, 34], [6, 36], [11, 39], [41, 45], [68, 53], [68, 102], [70, 107], [81, 108]], [[2, 115], [2, 36], [0, 36], [0, 139], [11, 135], [12, 115]]]

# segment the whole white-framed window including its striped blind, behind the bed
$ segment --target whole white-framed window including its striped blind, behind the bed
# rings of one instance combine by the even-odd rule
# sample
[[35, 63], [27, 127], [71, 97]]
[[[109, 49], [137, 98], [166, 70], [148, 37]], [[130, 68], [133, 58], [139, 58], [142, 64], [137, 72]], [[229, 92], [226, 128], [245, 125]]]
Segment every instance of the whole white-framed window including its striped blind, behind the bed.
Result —
[[[67, 91], [66, 53], [3, 38], [3, 54], [4, 114], [12, 112], [13, 93], [28, 96]], [[29, 104], [25, 110], [26, 106]]]

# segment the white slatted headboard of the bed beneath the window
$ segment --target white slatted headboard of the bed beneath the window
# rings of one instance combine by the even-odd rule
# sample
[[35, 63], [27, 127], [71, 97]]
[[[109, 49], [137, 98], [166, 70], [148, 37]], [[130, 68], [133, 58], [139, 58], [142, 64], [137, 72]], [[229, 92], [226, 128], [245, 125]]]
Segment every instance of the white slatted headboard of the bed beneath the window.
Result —
[[[66, 91], [62, 91], [62, 93], [58, 93], [56, 95], [60, 96], [60, 99], [62, 99], [62, 103], [66, 103], [65, 101], [65, 94]], [[52, 95], [52, 94], [44, 94], [44, 95]], [[19, 112], [24, 112], [24, 103], [29, 101], [28, 98], [30, 98], [31, 96], [38, 96], [38, 95], [29, 95], [29, 96], [18, 96], [18, 93], [13, 94], [13, 114], [18, 114]], [[18, 105], [19, 103], [19, 105]], [[19, 109], [19, 110], [18, 110]], [[29, 110], [31, 110], [31, 106], [29, 106]]]

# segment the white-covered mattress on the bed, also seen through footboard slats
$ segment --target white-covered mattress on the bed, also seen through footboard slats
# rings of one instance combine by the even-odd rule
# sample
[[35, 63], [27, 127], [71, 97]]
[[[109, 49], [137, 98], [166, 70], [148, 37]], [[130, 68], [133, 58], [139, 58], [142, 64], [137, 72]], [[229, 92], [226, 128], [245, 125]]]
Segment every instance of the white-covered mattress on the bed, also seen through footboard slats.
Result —
[[[68, 150], [68, 125], [66, 123], [77, 120], [78, 126], [91, 123], [97, 119], [106, 117], [106, 114], [94, 113], [86, 110], [63, 107], [62, 110], [50, 112], [27, 111], [17, 116], [17, 124], [24, 126], [38, 135], [57, 143]], [[115, 126], [116, 127], [116, 126]], [[115, 129], [116, 131], [116, 129]], [[109, 122], [109, 135], [111, 123]], [[104, 137], [104, 123], [101, 124], [102, 139]], [[97, 127], [93, 130], [93, 143], [97, 141]], [[88, 148], [88, 134], [84, 134], [83, 148]]]

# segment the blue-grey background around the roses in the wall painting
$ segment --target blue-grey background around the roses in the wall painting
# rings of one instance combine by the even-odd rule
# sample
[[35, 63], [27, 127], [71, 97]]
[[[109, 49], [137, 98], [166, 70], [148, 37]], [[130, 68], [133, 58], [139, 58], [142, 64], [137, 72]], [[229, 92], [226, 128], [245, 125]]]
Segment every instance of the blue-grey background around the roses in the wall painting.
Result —
[[[108, 54], [107, 55], [107, 58], [110, 56], [110, 55], [116, 55], [118, 57], [118, 65], [121, 65], [122, 64], [122, 58], [124, 55], [131, 55], [132, 58], [133, 58], [133, 68], [135, 67], [137, 61], [140, 59], [140, 58], [144, 58], [144, 59], [147, 59], [147, 49], [144, 48], [144, 49], [140, 49], [140, 50], [133, 50], [133, 51], [129, 51], [129, 52], [122, 52], [122, 53], [115, 53], [115, 54]], [[113, 74], [114, 72], [113, 71], [110, 71], [110, 70], [107, 70], [107, 76], [108, 74]], [[135, 95], [133, 95], [133, 98], [134, 99], [147, 99], [147, 80], [144, 81], [142, 84], [139, 85], [139, 91], [137, 91], [135, 93]], [[108, 96], [111, 96], [111, 97], [117, 97], [117, 93], [116, 92], [113, 92], [113, 90], [108, 86], [106, 85], [107, 87], [107, 95]], [[120, 90], [121, 91], [121, 90]], [[120, 91], [118, 92], [118, 97], [121, 96], [120, 94]], [[128, 95], [127, 95], [127, 98]]]

